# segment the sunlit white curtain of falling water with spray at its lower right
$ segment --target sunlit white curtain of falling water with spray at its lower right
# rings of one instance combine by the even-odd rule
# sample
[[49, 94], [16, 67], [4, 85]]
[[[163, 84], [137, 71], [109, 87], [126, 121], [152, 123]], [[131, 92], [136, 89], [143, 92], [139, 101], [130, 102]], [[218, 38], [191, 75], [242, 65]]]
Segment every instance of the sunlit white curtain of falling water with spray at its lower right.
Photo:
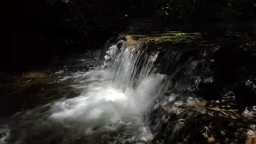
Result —
[[[116, 45], [110, 46], [105, 55], [104, 67], [114, 71], [114, 88], [134, 97], [136, 108], [144, 116], [149, 114], [152, 106], [164, 102], [159, 102], [159, 99], [172, 86], [171, 76], [160, 73], [159, 61], [165, 60], [168, 65], [178, 61], [182, 55], [182, 52], [174, 49], [167, 49], [159, 56], [160, 52], [158, 49], [150, 52], [142, 45], [128, 46], [124, 43], [120, 49]], [[164, 68], [168, 66], [165, 64]]]

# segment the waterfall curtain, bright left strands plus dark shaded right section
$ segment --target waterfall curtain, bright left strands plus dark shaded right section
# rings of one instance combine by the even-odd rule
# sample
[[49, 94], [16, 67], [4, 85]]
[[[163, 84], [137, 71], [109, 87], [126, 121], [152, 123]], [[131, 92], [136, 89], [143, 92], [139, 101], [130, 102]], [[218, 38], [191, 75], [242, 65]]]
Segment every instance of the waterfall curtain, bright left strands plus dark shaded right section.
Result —
[[104, 67], [112, 68], [114, 87], [123, 92], [136, 90], [145, 78], [157, 74], [165, 75], [169, 89], [196, 91], [197, 83], [190, 81], [192, 78], [200, 78], [205, 68], [202, 64], [206, 62], [204, 59], [194, 60], [193, 56], [187, 56], [180, 64], [183, 54], [175, 47], [150, 51], [142, 48], [142, 45], [123, 44], [121, 48], [113, 45], [106, 52]]

